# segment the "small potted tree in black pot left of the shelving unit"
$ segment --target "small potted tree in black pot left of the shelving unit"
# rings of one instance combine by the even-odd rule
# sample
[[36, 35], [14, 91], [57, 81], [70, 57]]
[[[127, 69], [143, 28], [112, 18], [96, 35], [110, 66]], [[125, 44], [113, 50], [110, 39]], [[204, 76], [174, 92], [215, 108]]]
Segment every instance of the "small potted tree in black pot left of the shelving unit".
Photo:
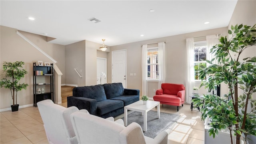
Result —
[[[28, 72], [22, 69], [22, 65], [24, 62], [4, 62], [3, 63], [3, 71], [6, 74], [6, 78], [2, 78], [0, 81], [1, 88], [4, 87], [6, 89], [11, 90], [12, 96], [12, 112], [17, 111], [19, 108], [19, 104], [17, 104], [17, 93], [22, 89], [26, 89], [28, 84], [22, 83], [20, 84], [20, 79], [24, 78], [25, 74]], [[15, 100], [16, 99], [16, 100]], [[16, 102], [16, 104], [14, 103]]]

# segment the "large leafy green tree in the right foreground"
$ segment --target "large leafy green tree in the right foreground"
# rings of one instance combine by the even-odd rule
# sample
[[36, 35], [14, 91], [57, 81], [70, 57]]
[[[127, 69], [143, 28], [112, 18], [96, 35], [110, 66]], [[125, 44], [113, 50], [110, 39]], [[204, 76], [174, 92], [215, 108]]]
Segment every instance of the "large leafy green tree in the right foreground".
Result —
[[[215, 54], [212, 60], [206, 60], [210, 66], [200, 71], [201, 86], [213, 88], [224, 82], [229, 92], [224, 98], [207, 94], [192, 100], [196, 106], [202, 107], [202, 120], [211, 118], [208, 130], [213, 138], [218, 131], [228, 128], [230, 140], [235, 136], [236, 144], [240, 144], [241, 136], [256, 136], [256, 100], [252, 94], [256, 92], [256, 56], [241, 58], [242, 52], [256, 46], [256, 26], [231, 26], [228, 34], [219, 39], [220, 44], [213, 46], [210, 53]], [[218, 64], [213, 64], [214, 60]], [[240, 89], [240, 91], [238, 91]], [[250, 108], [249, 108], [250, 106]]]

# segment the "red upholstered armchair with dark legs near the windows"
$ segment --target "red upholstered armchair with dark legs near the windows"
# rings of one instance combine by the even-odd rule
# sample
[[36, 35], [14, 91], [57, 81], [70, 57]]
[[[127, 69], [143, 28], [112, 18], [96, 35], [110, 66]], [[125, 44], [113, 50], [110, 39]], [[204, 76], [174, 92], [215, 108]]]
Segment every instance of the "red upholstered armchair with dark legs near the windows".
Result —
[[161, 89], [156, 90], [153, 99], [160, 104], [177, 106], [177, 111], [179, 111], [179, 106], [183, 106], [185, 100], [185, 86], [183, 84], [162, 83]]

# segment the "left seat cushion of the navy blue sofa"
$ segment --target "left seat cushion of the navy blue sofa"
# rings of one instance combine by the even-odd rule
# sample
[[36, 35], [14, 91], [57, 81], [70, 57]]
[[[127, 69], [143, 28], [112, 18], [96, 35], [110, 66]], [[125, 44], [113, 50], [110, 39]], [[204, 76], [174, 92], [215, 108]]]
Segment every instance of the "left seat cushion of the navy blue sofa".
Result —
[[97, 102], [97, 114], [100, 116], [122, 107], [124, 107], [122, 100], [102, 100]]

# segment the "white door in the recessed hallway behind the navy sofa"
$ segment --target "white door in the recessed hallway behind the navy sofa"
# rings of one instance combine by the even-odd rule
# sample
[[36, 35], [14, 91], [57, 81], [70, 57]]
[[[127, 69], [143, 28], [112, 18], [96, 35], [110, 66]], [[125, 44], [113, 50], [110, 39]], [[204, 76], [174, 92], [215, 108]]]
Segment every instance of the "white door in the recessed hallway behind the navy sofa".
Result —
[[97, 58], [97, 84], [107, 83], [107, 59]]

